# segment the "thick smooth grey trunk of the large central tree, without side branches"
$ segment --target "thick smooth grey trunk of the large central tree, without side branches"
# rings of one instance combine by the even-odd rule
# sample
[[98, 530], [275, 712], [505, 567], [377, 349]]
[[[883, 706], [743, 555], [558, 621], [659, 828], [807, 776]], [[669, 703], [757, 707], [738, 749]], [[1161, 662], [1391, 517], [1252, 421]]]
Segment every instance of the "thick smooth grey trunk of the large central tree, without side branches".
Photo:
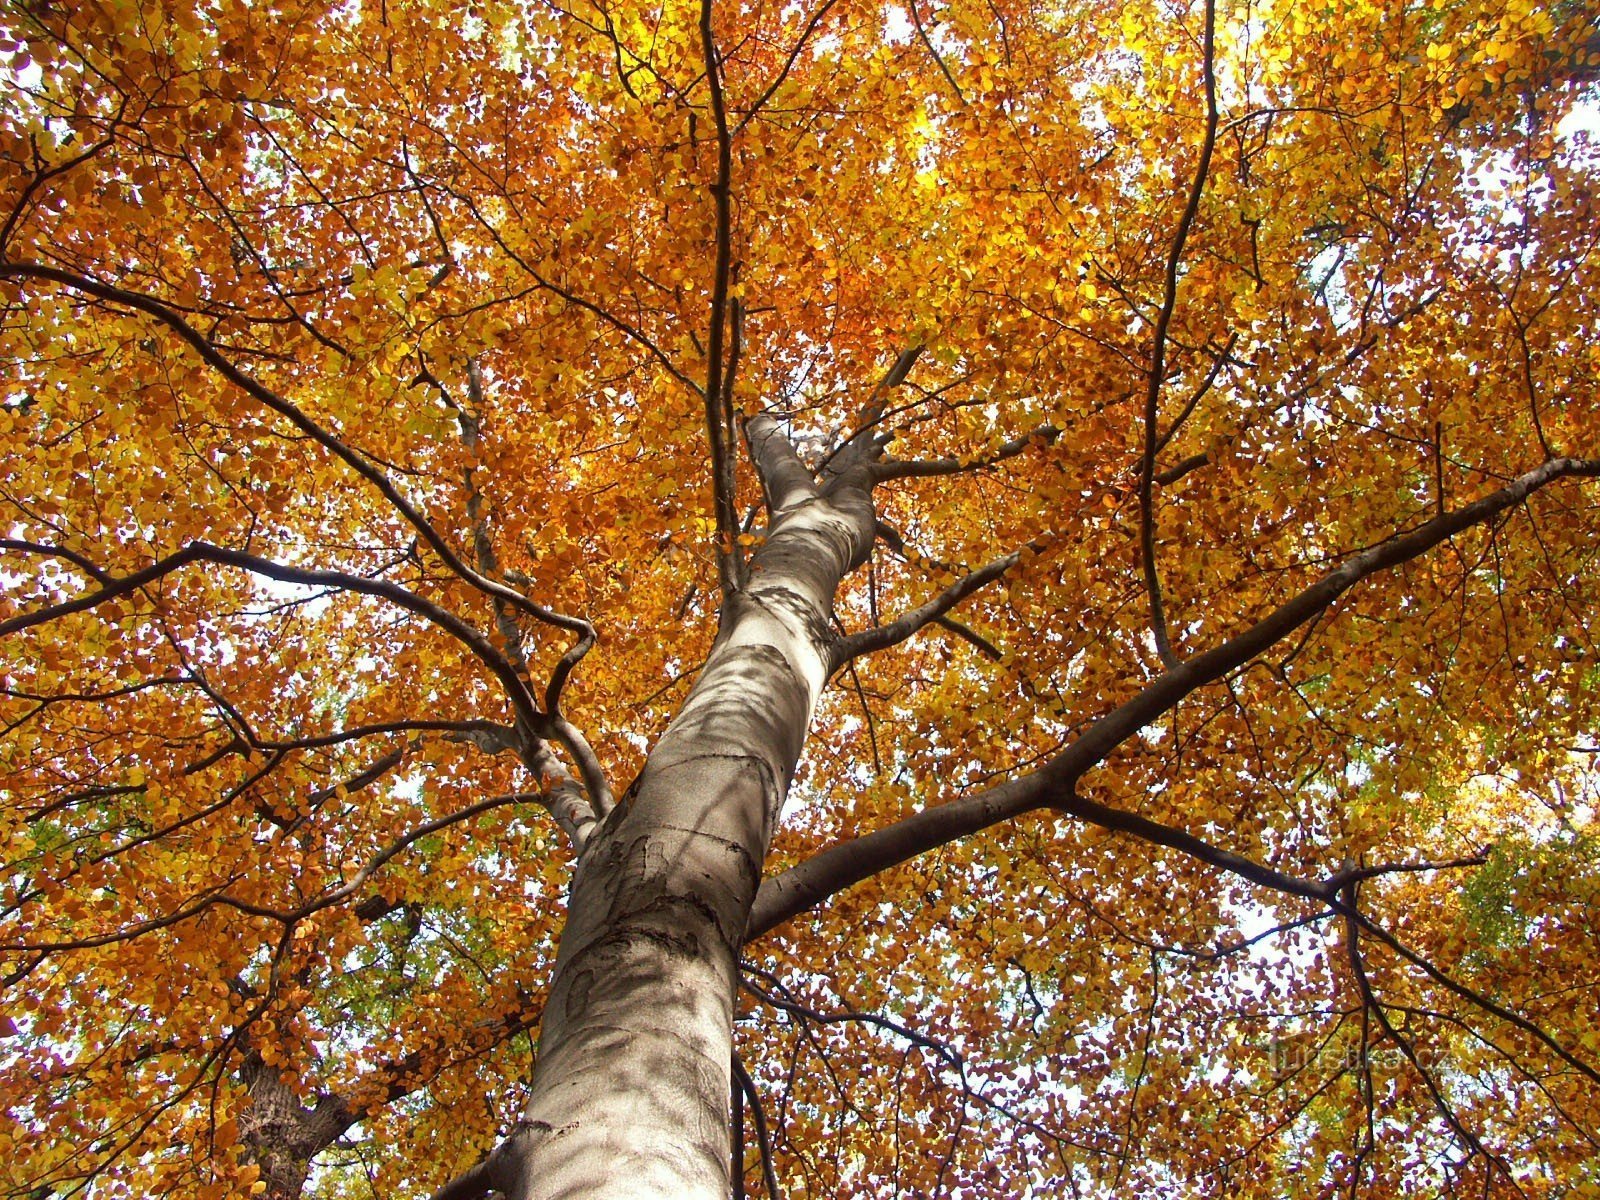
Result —
[[531, 1098], [502, 1147], [515, 1200], [728, 1195], [739, 947], [832, 669], [834, 592], [875, 525], [866, 469], [819, 490], [771, 421], [747, 432], [768, 536], [578, 867]]

